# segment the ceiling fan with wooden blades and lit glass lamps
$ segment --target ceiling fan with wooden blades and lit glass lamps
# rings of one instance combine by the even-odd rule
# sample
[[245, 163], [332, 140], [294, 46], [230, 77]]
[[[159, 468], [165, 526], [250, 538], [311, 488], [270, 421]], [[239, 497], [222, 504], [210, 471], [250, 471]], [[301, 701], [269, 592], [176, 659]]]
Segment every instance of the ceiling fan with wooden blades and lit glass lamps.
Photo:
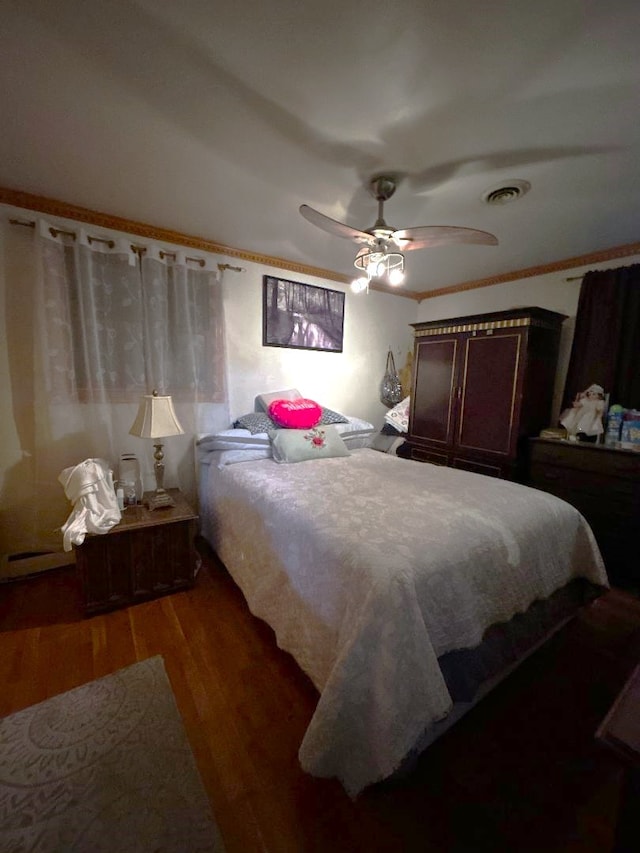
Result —
[[378, 218], [364, 231], [331, 219], [307, 204], [300, 205], [300, 213], [312, 225], [336, 237], [362, 244], [353, 262], [361, 273], [351, 285], [356, 292], [368, 290], [372, 279], [385, 276], [390, 284], [401, 284], [404, 281], [403, 252], [458, 243], [498, 244], [497, 238], [488, 231], [455, 225], [422, 225], [397, 230], [387, 225], [383, 217], [384, 203], [396, 191], [396, 178], [393, 175], [376, 175], [369, 181], [369, 191], [378, 202]]

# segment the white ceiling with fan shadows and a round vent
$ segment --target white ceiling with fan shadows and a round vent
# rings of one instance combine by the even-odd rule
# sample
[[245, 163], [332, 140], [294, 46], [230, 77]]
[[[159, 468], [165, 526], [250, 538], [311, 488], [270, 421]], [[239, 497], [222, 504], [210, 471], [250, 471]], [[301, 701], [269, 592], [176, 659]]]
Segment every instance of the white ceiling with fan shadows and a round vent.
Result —
[[[0, 186], [351, 275], [370, 227], [427, 291], [640, 239], [638, 0], [0, 0]], [[488, 206], [485, 191], [531, 190]]]

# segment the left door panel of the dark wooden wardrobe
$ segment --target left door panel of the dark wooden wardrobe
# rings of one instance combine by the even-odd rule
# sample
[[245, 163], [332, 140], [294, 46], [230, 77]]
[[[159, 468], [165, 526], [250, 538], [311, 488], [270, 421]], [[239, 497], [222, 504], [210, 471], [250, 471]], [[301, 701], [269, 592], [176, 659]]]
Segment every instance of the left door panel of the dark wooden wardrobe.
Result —
[[459, 347], [457, 335], [427, 337], [416, 347], [409, 432], [443, 449], [455, 435]]

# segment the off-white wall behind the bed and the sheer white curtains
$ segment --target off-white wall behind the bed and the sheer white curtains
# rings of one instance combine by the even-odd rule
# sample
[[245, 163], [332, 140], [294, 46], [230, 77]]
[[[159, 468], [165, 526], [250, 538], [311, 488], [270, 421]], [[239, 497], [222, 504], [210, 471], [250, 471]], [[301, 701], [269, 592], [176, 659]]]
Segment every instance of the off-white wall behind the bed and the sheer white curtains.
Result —
[[[32, 345], [28, 328], [19, 328], [7, 317], [20, 315], [21, 300], [29, 299], [32, 231], [10, 225], [9, 217], [36, 219], [29, 211], [0, 206], [0, 559], [2, 555], [32, 550], [32, 527], [37, 525], [32, 501], [31, 450], [33, 433]], [[48, 217], [61, 227], [77, 223]], [[87, 227], [94, 235], [114, 232]], [[140, 244], [144, 240], [134, 238]], [[171, 249], [171, 246], [167, 246]], [[10, 249], [10, 250], [9, 250]], [[204, 253], [200, 253], [204, 254]], [[237, 264], [233, 258], [216, 258], [217, 263]], [[365, 418], [377, 427], [386, 408], [378, 398], [387, 350], [392, 348], [400, 368], [412, 348], [411, 328], [416, 303], [410, 299], [371, 291], [352, 294], [345, 285], [284, 270], [244, 264], [245, 271], [223, 273], [229, 413], [233, 420], [253, 411], [255, 397], [263, 392], [296, 387], [305, 396], [323, 405]], [[281, 276], [333, 290], [343, 290], [345, 298], [344, 351], [315, 352], [262, 346], [262, 277]], [[22, 312], [24, 313], [24, 312]], [[122, 408], [122, 407], [121, 407]], [[136, 406], [120, 412], [118, 419], [130, 424]], [[35, 413], [37, 418], [37, 412]], [[230, 425], [227, 424], [227, 425]], [[142, 439], [131, 439], [122, 428], [123, 450], [133, 450], [141, 458], [146, 487], [152, 488], [152, 457]], [[131, 446], [133, 445], [133, 446]], [[139, 445], [139, 446], [138, 446]], [[181, 472], [192, 474], [195, 463], [193, 437], [180, 436], [165, 448], [165, 485], [180, 485]], [[70, 452], [73, 452], [72, 450]], [[85, 456], [70, 458], [65, 465], [81, 462]], [[110, 460], [115, 463], [117, 460]], [[62, 470], [60, 467], [60, 470]], [[60, 487], [58, 521], [62, 524], [69, 504]]]

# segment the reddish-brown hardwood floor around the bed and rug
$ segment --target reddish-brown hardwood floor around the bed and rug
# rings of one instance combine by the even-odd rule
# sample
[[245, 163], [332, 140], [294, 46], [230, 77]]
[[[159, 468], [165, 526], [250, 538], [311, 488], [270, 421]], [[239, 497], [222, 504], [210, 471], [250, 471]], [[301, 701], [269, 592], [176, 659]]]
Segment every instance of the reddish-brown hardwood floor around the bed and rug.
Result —
[[611, 850], [622, 768], [594, 733], [640, 660], [640, 600], [607, 592], [352, 801], [301, 771], [317, 694], [202, 551], [194, 589], [90, 619], [73, 569], [1, 585], [0, 716], [161, 654], [228, 853]]

